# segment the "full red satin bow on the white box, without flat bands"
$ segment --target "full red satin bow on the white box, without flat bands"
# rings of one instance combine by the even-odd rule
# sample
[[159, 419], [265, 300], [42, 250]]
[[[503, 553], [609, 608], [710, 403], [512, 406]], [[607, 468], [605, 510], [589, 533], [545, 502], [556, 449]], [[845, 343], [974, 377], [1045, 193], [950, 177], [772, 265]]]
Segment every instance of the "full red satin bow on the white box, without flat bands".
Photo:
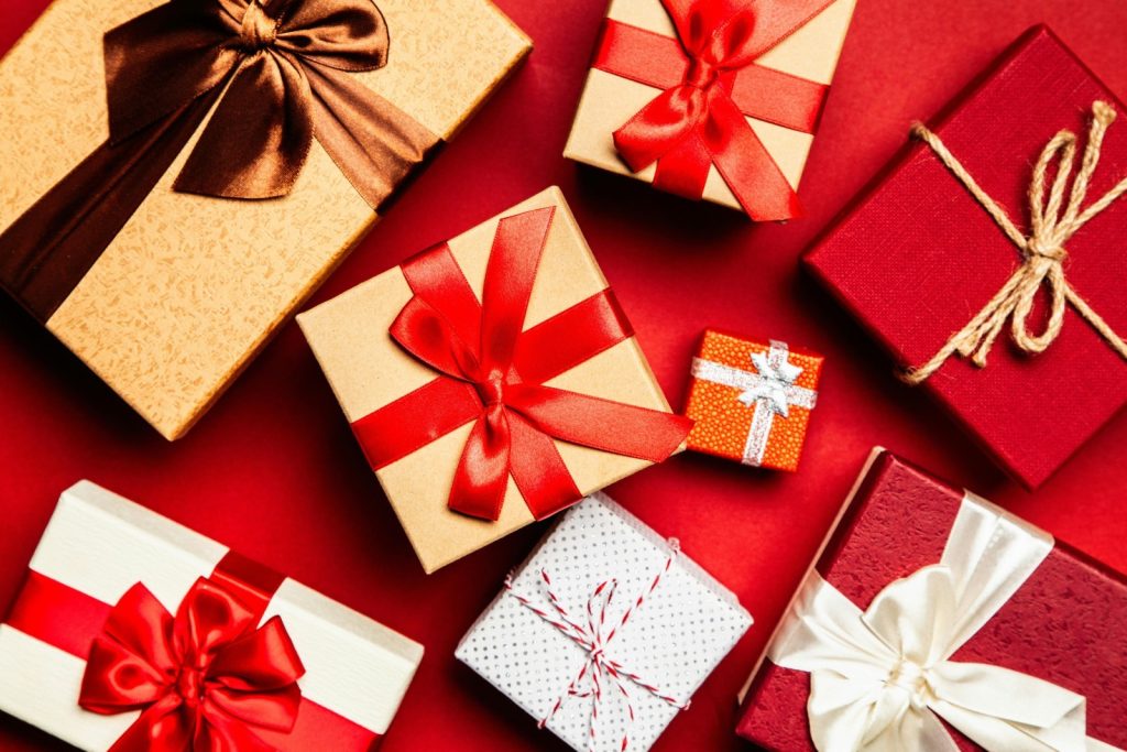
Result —
[[268, 752], [255, 729], [289, 732], [305, 672], [278, 617], [258, 614], [201, 577], [174, 619], [137, 583], [90, 647], [79, 705], [141, 710], [110, 752]]

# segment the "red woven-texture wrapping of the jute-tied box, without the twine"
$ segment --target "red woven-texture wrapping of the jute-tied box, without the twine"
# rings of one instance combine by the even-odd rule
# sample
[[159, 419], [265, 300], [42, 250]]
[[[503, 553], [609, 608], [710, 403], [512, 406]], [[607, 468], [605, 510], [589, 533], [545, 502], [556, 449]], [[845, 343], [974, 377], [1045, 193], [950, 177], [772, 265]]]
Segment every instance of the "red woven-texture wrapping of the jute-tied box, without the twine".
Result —
[[[1022, 37], [933, 130], [1023, 227], [1032, 163], [1059, 130], [1085, 134], [1097, 99], [1111, 103], [1120, 122], [1104, 141], [1090, 204], [1127, 176], [1127, 108], [1044, 27]], [[1066, 276], [1127, 336], [1125, 235], [1127, 201], [1120, 201], [1068, 241]], [[1002, 289], [1019, 259], [1013, 242], [921, 143], [806, 256], [902, 365], [931, 359]], [[1038, 313], [1035, 331], [1044, 326]], [[923, 388], [1036, 488], [1127, 404], [1127, 363], [1070, 308], [1047, 352], [1021, 353], [1006, 329], [985, 370], [951, 359]]]

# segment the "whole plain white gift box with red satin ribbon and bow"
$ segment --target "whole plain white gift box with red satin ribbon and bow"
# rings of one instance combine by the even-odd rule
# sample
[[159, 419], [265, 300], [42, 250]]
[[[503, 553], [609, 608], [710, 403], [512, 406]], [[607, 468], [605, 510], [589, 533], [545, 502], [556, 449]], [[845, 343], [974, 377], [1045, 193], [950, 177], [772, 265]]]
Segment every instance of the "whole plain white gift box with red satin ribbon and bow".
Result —
[[0, 623], [0, 710], [83, 750], [369, 750], [423, 646], [98, 486]]

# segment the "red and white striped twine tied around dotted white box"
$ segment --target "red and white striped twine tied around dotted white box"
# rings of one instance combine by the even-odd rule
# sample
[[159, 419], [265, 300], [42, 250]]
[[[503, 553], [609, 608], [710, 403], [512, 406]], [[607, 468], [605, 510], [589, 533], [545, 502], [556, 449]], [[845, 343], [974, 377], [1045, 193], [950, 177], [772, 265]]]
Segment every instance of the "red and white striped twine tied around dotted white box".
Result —
[[[548, 595], [548, 601], [551, 604], [554, 613], [545, 609], [540, 608], [533, 603], [530, 599], [525, 598], [521, 593], [517, 593], [513, 589], [513, 576], [509, 575], [505, 578], [505, 589], [508, 594], [512, 595], [521, 605], [532, 611], [534, 614], [547, 621], [549, 625], [554, 627], [565, 637], [570, 639], [573, 643], [578, 645], [585, 653], [587, 653], [587, 661], [583, 664], [579, 670], [578, 675], [571, 680], [568, 684], [567, 690], [560, 695], [559, 699], [552, 706], [552, 709], [540, 720], [540, 727], [543, 728], [549, 720], [552, 719], [564, 704], [573, 697], [577, 698], [593, 698], [591, 706], [591, 725], [588, 729], [588, 742], [587, 749], [589, 752], [595, 750], [595, 727], [598, 722], [598, 708], [603, 700], [603, 684], [612, 685], [616, 689], [625, 700], [627, 715], [629, 716], [629, 725], [635, 722], [635, 709], [633, 702], [630, 698], [629, 684], [635, 684], [636, 687], [649, 692], [657, 699], [672, 705], [678, 710], [685, 710], [689, 708], [689, 700], [682, 702], [675, 697], [666, 695], [656, 684], [647, 682], [637, 673], [629, 671], [621, 663], [607, 655], [607, 649], [610, 647], [611, 640], [618, 635], [630, 617], [641, 608], [641, 604], [646, 602], [654, 591], [657, 590], [658, 583], [662, 582], [662, 577], [665, 573], [669, 570], [673, 566], [673, 560], [677, 558], [681, 548], [676, 540], [669, 540], [669, 556], [665, 560], [665, 565], [654, 575], [654, 580], [650, 582], [649, 587], [642, 592], [633, 603], [625, 610], [622, 618], [616, 622], [610, 622], [613, 626], [610, 627], [607, 631], [607, 619], [606, 612], [610, 610], [611, 602], [614, 600], [614, 593], [618, 591], [619, 582], [615, 578], [605, 580], [595, 587], [591, 596], [587, 599], [587, 619], [586, 626], [578, 623], [571, 618], [567, 608], [560, 602], [559, 596], [557, 596], [556, 591], [552, 589], [552, 580], [544, 569], [540, 570], [540, 577], [544, 583], [545, 593]], [[589, 682], [588, 688], [580, 688], [584, 682]], [[629, 728], [628, 725], [628, 728]], [[629, 731], [622, 735], [622, 752], [625, 752], [629, 745]]]

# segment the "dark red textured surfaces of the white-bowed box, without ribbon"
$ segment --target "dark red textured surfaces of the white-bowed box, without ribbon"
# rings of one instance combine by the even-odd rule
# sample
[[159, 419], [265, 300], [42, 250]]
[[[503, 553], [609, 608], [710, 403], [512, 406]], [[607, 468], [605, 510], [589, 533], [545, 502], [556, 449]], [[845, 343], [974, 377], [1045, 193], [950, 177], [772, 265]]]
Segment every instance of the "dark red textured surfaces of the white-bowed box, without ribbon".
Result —
[[[889, 583], [940, 560], [964, 496], [889, 452], [875, 453], [815, 569], [866, 609]], [[1056, 542], [951, 660], [1011, 669], [1083, 695], [1088, 735], [1127, 746], [1127, 578], [1066, 543]], [[809, 693], [809, 674], [764, 658], [738, 733], [769, 750], [813, 751]], [[959, 749], [980, 749], [948, 731]]]

